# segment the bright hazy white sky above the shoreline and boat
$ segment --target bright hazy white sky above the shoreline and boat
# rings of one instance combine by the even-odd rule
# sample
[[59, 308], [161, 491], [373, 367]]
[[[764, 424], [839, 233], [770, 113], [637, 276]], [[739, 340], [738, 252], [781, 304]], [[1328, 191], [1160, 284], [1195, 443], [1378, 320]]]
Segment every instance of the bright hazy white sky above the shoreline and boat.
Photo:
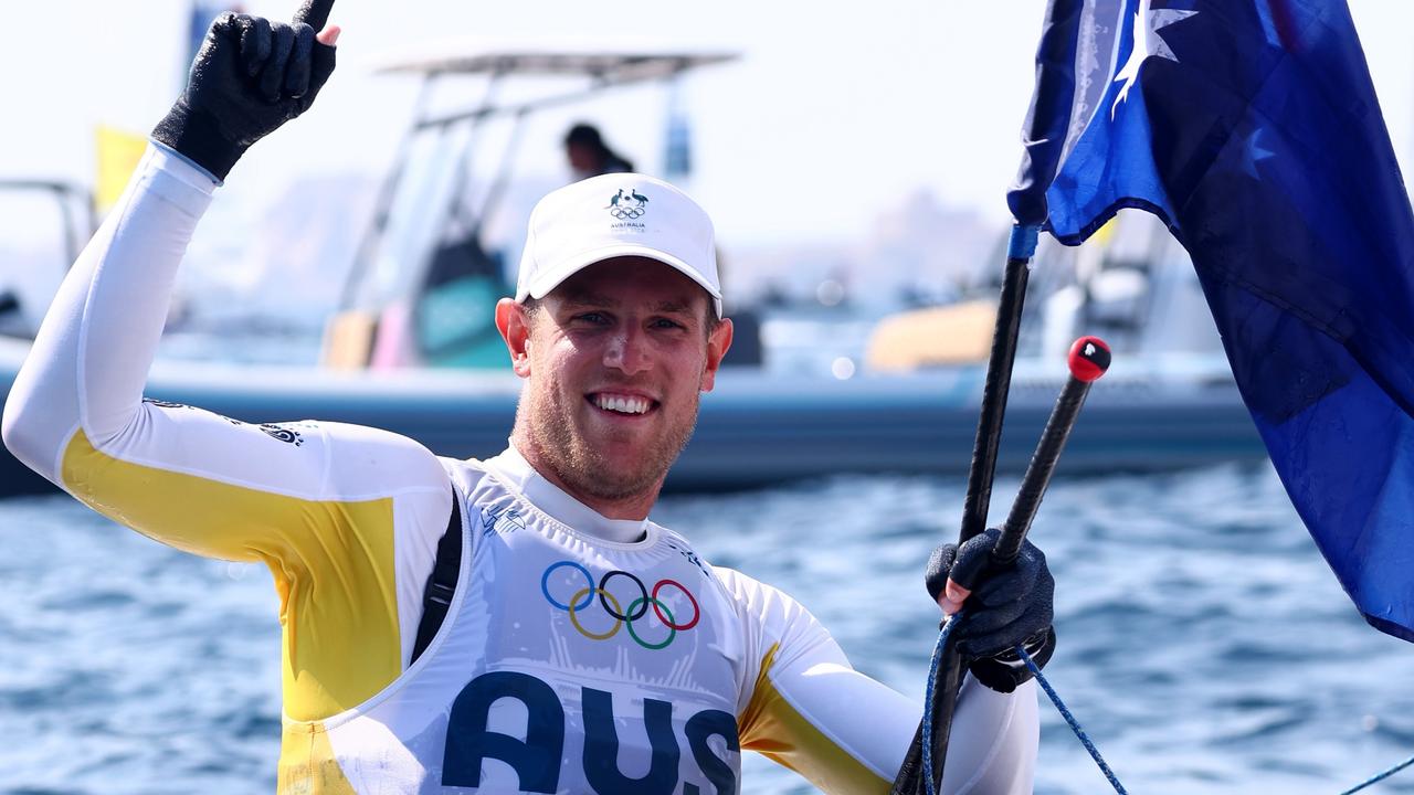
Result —
[[[247, 0], [287, 18], [294, 0]], [[0, 48], [7, 103], [0, 177], [90, 181], [92, 126], [147, 130], [184, 74], [181, 0], [10, 0]], [[1414, 4], [1353, 0], [1394, 146], [1414, 143]], [[298, 170], [382, 171], [413, 96], [373, 75], [392, 50], [455, 37], [629, 41], [741, 52], [684, 85], [693, 119], [690, 190], [738, 242], [843, 240], [919, 188], [1005, 219], [1017, 134], [1031, 92], [1044, 0], [584, 3], [339, 0], [341, 68], [312, 112], [240, 163], [225, 201], [259, 204]], [[59, 44], [62, 42], [62, 44]], [[475, 95], [468, 95], [468, 103]], [[520, 174], [566, 175], [559, 139], [574, 120], [656, 171], [666, 92], [650, 86], [533, 120]], [[491, 136], [495, 139], [495, 136]], [[493, 160], [488, 153], [485, 160]], [[484, 160], [484, 161], [485, 161]], [[11, 224], [0, 239], [21, 235]]]

